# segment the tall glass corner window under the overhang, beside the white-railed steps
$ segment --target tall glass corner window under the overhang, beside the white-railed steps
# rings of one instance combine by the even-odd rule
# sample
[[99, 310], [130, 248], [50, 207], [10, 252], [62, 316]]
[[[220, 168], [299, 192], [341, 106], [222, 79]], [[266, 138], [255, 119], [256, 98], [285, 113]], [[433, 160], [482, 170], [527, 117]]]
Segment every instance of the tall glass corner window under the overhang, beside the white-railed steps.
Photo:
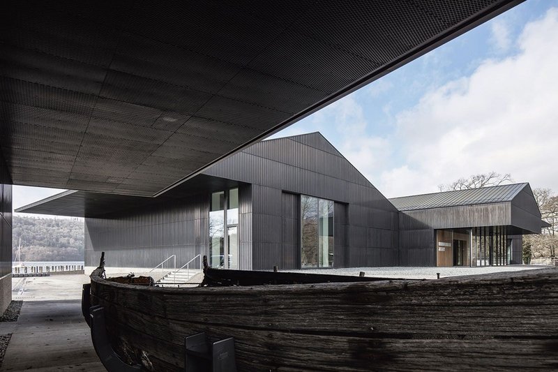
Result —
[[239, 189], [212, 193], [209, 206], [209, 266], [238, 269], [238, 223]]

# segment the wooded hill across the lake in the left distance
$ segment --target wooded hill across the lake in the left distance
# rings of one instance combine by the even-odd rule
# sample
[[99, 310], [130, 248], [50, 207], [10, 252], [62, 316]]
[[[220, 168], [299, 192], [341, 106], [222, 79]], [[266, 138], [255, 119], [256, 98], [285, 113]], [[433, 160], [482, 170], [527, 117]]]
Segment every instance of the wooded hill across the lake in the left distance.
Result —
[[13, 259], [22, 241], [24, 261], [82, 261], [84, 222], [79, 218], [13, 216]]

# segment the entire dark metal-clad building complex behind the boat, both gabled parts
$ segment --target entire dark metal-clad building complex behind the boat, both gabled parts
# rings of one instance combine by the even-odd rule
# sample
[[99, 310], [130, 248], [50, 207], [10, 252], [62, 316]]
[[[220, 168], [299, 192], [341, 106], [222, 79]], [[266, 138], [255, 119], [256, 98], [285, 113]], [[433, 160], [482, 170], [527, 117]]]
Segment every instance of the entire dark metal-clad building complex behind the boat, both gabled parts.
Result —
[[529, 184], [387, 200], [321, 134], [259, 142], [158, 198], [68, 191], [17, 211], [84, 216], [86, 265], [234, 269], [522, 263]]

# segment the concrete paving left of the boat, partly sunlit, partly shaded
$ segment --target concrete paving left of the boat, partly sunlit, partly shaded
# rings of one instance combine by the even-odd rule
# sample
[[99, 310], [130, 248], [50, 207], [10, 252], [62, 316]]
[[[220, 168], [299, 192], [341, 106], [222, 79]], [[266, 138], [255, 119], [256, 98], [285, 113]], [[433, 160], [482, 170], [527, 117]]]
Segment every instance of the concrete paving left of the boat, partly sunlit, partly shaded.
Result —
[[[24, 281], [20, 282], [20, 279]], [[24, 301], [0, 371], [106, 371], [93, 349], [81, 310], [85, 275], [14, 278], [13, 299]]]

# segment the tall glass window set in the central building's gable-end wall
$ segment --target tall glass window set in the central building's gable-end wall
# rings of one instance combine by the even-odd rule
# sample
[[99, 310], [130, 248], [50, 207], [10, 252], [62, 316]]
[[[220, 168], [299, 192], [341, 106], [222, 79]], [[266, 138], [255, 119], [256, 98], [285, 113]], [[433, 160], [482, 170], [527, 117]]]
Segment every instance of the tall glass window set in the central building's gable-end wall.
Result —
[[334, 205], [331, 200], [301, 195], [301, 267], [333, 267]]

